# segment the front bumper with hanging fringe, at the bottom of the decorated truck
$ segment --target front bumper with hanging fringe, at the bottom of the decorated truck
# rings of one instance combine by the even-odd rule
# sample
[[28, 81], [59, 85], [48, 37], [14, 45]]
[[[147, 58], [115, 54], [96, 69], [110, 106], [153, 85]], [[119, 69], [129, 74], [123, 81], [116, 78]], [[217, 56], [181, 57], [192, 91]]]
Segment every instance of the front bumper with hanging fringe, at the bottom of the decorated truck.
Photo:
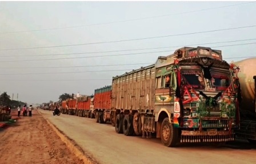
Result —
[[181, 131], [181, 142], [227, 142], [234, 141], [233, 131], [218, 131], [207, 129], [207, 131]]

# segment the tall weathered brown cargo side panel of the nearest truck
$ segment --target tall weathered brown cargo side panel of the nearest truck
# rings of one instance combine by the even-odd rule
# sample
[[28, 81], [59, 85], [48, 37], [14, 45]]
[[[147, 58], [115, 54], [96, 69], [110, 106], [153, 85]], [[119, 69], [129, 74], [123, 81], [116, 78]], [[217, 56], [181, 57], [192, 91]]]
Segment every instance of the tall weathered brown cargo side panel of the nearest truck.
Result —
[[153, 110], [154, 92], [154, 65], [114, 77], [111, 107], [125, 110]]

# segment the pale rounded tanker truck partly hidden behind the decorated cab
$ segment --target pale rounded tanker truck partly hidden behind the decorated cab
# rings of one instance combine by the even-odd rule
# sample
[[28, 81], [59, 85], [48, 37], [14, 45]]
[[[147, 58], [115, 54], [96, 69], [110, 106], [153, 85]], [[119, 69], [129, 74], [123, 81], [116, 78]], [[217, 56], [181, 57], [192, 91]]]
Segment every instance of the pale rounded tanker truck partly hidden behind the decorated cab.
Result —
[[239, 67], [239, 82], [241, 85], [242, 101], [239, 104], [240, 126], [236, 131], [238, 138], [256, 143], [256, 58], [235, 62]]

